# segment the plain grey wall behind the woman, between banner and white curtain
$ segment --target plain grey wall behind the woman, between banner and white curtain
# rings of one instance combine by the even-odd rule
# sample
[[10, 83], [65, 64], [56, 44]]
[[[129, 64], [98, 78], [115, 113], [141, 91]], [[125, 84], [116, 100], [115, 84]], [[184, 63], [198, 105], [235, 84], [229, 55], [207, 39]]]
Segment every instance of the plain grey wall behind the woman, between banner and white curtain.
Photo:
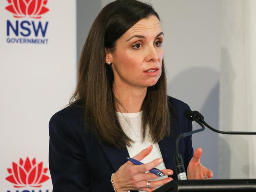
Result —
[[[78, 0], [78, 50], [96, 15], [112, 0]], [[161, 17], [169, 95], [204, 114], [213, 127], [219, 123], [221, 43], [220, 0], [147, 0]], [[89, 5], [89, 6], [88, 6]], [[194, 125], [194, 129], [198, 128]], [[193, 136], [201, 147], [201, 162], [218, 175], [218, 136], [206, 130]]]

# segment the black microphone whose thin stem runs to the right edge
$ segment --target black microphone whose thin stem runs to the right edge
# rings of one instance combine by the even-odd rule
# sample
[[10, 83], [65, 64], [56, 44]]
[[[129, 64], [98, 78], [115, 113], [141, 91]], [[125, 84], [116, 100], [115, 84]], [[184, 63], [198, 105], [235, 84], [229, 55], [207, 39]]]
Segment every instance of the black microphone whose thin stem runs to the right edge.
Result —
[[[195, 116], [195, 118], [201, 122], [202, 124], [204, 124], [206, 127], [208, 127], [209, 129], [211, 129], [211, 131], [214, 131], [216, 133], [221, 133], [221, 134], [228, 134], [228, 135], [256, 135], [256, 132], [246, 132], [246, 131], [219, 131], [217, 129], [214, 129], [213, 127], [209, 126], [205, 121], [204, 121], [204, 116], [202, 116], [201, 113], [199, 113], [198, 111], [193, 111], [193, 114]], [[191, 118], [188, 118], [189, 120], [191, 120]], [[191, 120], [193, 121], [193, 120]], [[195, 121], [197, 122], [197, 121]]]

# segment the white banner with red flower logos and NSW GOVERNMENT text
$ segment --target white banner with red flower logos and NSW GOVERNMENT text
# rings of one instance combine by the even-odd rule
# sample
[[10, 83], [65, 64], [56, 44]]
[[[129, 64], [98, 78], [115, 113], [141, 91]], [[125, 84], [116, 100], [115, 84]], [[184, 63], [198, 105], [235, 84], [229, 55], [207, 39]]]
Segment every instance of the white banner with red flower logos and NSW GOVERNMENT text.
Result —
[[51, 192], [48, 122], [76, 84], [76, 1], [0, 10], [0, 191]]

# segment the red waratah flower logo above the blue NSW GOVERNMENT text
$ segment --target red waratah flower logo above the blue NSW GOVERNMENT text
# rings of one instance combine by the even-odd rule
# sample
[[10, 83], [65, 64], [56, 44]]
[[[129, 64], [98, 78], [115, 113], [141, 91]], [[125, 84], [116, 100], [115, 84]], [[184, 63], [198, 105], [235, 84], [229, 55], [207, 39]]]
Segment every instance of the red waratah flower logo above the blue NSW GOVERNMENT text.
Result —
[[41, 18], [41, 15], [48, 12], [46, 6], [48, 0], [7, 0], [8, 11], [13, 13], [13, 17]]

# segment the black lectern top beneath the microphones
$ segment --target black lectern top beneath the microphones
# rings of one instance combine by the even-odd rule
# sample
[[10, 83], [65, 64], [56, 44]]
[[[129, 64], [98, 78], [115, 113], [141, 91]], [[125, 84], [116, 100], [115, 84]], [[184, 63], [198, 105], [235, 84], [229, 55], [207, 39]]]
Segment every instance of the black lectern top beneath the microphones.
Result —
[[155, 192], [256, 192], [256, 179], [173, 180]]

